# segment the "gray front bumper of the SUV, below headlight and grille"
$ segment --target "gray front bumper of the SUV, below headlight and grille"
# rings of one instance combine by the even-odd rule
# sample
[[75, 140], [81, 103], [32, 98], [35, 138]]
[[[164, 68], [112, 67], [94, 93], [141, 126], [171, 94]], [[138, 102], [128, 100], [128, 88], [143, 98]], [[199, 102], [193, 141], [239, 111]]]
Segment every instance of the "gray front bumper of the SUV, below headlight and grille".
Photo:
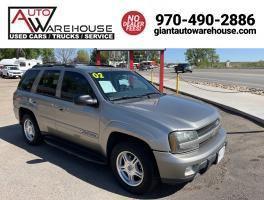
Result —
[[[200, 146], [199, 150], [185, 154], [153, 151], [162, 182], [179, 183], [191, 181], [197, 173], [206, 171], [216, 164], [219, 150], [227, 143], [226, 132], [219, 133]], [[192, 167], [191, 175], [186, 175], [186, 168]]]

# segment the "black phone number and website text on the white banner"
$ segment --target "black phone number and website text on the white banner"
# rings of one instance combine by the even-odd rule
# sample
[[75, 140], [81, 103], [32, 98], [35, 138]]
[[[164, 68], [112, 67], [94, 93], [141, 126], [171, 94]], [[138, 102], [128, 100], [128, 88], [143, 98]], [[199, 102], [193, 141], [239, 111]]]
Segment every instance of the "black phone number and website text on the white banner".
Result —
[[[257, 33], [254, 14], [192, 14], [156, 15], [154, 35], [254, 35]], [[185, 27], [180, 27], [185, 26]], [[193, 27], [189, 27], [193, 26]], [[199, 26], [199, 27], [197, 27]], [[202, 27], [203, 26], [203, 27]]]

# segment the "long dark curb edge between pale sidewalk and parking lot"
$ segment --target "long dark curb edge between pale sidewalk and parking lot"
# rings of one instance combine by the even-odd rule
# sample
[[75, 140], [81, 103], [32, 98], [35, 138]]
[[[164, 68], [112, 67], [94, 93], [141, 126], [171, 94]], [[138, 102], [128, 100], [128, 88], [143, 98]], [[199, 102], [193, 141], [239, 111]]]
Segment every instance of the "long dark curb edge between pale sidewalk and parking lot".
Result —
[[[158, 83], [153, 83], [153, 84], [159, 85]], [[167, 90], [171, 90], [171, 91], [176, 92], [175, 89], [170, 88], [168, 86], [164, 86], [164, 88], [167, 89]], [[189, 96], [189, 97], [192, 97], [192, 98], [195, 98], [195, 99], [202, 100], [204, 102], [213, 104], [213, 105], [215, 105], [217, 107], [220, 107], [220, 108], [222, 108], [224, 110], [227, 110], [227, 111], [229, 111], [231, 113], [235, 113], [235, 114], [237, 114], [239, 116], [242, 116], [242, 117], [244, 117], [244, 118], [246, 118], [246, 119], [248, 119], [248, 120], [250, 120], [250, 121], [252, 121], [252, 122], [254, 122], [254, 123], [258, 124], [258, 125], [260, 125], [261, 127], [264, 127], [264, 119], [261, 119], [261, 118], [258, 118], [256, 116], [250, 115], [249, 113], [243, 112], [243, 111], [238, 110], [236, 108], [233, 108], [233, 107], [230, 107], [230, 106], [227, 106], [227, 105], [215, 102], [215, 101], [211, 101], [211, 100], [208, 100], [208, 99], [205, 99], [205, 98], [202, 98], [202, 97], [198, 97], [196, 95], [189, 94], [187, 92], [179, 91], [179, 93], [182, 94], [182, 95], [185, 95], [185, 96]]]

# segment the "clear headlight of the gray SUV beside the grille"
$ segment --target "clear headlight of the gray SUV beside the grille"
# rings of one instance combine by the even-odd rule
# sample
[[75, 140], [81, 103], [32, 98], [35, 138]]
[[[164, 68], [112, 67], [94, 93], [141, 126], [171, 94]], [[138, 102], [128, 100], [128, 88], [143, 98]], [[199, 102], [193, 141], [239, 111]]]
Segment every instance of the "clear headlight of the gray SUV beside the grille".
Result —
[[196, 131], [177, 131], [169, 134], [171, 153], [183, 153], [199, 148]]

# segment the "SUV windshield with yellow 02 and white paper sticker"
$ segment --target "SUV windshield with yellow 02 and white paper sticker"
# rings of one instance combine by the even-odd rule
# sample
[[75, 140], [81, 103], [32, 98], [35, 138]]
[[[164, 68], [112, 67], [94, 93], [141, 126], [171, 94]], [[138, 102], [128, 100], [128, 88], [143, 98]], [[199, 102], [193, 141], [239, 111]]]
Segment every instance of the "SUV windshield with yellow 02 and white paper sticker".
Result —
[[161, 95], [146, 79], [131, 71], [105, 71], [90, 74], [110, 101]]

